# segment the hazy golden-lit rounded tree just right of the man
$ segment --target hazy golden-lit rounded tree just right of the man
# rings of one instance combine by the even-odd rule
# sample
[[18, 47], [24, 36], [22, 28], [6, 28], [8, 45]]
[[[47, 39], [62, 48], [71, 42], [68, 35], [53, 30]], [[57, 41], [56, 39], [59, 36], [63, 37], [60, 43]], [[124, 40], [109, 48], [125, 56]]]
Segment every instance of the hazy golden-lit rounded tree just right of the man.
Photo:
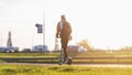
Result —
[[81, 40], [80, 42], [77, 43], [77, 45], [87, 49], [87, 51], [91, 51], [92, 50], [92, 46], [89, 44], [87, 39]]

